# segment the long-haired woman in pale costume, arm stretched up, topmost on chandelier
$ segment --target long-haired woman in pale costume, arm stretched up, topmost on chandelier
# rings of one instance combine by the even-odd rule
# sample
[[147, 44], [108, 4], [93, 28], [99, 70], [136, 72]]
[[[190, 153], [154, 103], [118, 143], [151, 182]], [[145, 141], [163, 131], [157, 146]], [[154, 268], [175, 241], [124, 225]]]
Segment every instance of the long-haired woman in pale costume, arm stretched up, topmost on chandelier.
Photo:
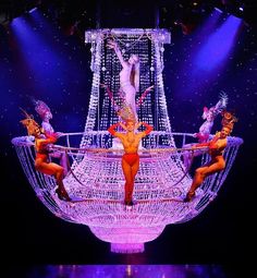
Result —
[[131, 55], [130, 59], [125, 61], [115, 41], [109, 40], [107, 47], [114, 49], [117, 57], [121, 62], [121, 92], [124, 94], [126, 105], [132, 108], [132, 111], [137, 120], [135, 97], [136, 93], [139, 92], [139, 57], [137, 55]]

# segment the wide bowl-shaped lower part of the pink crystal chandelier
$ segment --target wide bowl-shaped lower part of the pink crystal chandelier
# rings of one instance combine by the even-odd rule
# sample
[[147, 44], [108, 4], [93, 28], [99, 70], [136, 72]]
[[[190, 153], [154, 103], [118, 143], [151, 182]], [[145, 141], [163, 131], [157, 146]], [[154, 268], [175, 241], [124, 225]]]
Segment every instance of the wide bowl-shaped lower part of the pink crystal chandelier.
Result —
[[[83, 147], [73, 145], [75, 136], [84, 136]], [[33, 137], [12, 140], [36, 195], [58, 217], [89, 226], [103, 241], [118, 245], [131, 244], [131, 247], [157, 238], [166, 225], [188, 221], [198, 215], [217, 196], [243, 143], [242, 138], [228, 137], [225, 169], [208, 177], [196, 191], [196, 197], [184, 203], [192, 177], [182, 156], [185, 152], [194, 154], [194, 150], [183, 146], [193, 134], [152, 132], [138, 150], [140, 166], [133, 194], [135, 205], [128, 208], [123, 204], [123, 150], [115, 145], [112, 136], [98, 131], [66, 133], [63, 137], [66, 140], [65, 146], [54, 145], [53, 150], [64, 152], [69, 158], [71, 169], [63, 182], [69, 194], [75, 196], [72, 202], [58, 198], [52, 177], [35, 171]], [[201, 150], [203, 155], [195, 164], [208, 161], [209, 155], [204, 148]], [[119, 246], [112, 245], [112, 249], [119, 252]]]

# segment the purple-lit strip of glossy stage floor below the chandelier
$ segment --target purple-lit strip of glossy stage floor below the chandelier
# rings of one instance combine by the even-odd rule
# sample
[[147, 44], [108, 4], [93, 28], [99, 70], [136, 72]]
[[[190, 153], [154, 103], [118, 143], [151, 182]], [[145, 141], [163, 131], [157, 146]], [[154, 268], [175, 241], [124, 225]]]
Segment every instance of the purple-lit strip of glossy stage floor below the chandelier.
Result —
[[[125, 245], [125, 244], [124, 244]], [[122, 249], [122, 244], [112, 244]], [[140, 249], [134, 244], [134, 249]], [[126, 246], [124, 246], [126, 249]], [[224, 267], [219, 265], [47, 265], [34, 266], [30, 278], [225, 278]]]

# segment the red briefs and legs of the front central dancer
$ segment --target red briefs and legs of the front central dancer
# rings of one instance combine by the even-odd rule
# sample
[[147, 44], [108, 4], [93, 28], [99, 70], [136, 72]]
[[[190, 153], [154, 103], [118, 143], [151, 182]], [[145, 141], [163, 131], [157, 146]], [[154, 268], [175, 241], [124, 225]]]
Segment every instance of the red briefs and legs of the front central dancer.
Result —
[[132, 195], [136, 173], [139, 169], [138, 154], [124, 154], [122, 157], [122, 170], [125, 176], [125, 204], [132, 205]]

